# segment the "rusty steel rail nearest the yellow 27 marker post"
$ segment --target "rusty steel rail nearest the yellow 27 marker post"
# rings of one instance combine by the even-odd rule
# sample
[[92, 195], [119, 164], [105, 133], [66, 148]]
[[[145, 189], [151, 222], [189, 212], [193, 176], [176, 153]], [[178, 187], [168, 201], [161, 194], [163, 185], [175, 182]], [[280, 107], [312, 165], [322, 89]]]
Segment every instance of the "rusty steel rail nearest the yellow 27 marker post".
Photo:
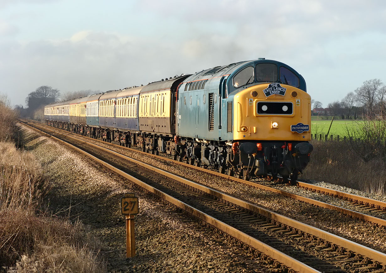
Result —
[[[24, 123], [25, 124], [25, 123]], [[27, 126], [30, 126], [28, 124], [26, 124]], [[86, 155], [87, 157], [93, 159], [94, 161], [100, 163], [101, 165], [103, 165], [104, 167], [106, 167], [107, 169], [110, 169], [112, 170], [113, 172], [121, 175], [122, 177], [125, 177], [126, 179], [134, 182], [135, 184], [139, 185], [140, 187], [146, 189], [147, 191], [157, 195], [158, 197], [160, 197], [161, 199], [164, 199], [168, 202], [170, 202], [171, 204], [173, 204], [174, 206], [177, 206], [179, 207], [180, 209], [182, 209], [183, 211], [186, 211], [188, 212], [189, 214], [201, 219], [202, 221], [204, 222], [207, 222], [208, 224], [222, 230], [223, 232], [229, 234], [230, 236], [234, 237], [234, 238], [237, 238], [238, 240], [244, 242], [245, 244], [248, 244], [249, 246], [251, 246], [252, 248], [255, 248], [257, 249], [258, 251], [262, 252], [262, 253], [265, 253], [267, 256], [270, 256], [272, 259], [274, 260], [277, 260], [279, 261], [279, 263], [281, 263], [282, 265], [285, 265], [286, 267], [288, 268], [291, 268], [293, 270], [295, 270], [296, 272], [305, 272], [305, 273], [321, 273], [320, 271], [318, 270], [315, 270], [313, 269], [312, 267], [308, 266], [308, 265], [305, 265], [304, 263], [301, 263], [300, 261], [288, 256], [287, 254], [277, 250], [277, 249], [274, 249], [272, 248], [271, 246], [249, 236], [248, 234], [245, 234], [243, 233], [242, 231], [239, 231], [237, 229], [235, 229], [234, 227], [232, 226], [229, 226], [228, 224], [225, 224], [224, 222], [222, 221], [219, 221], [218, 219], [208, 215], [208, 214], [205, 214], [204, 212], [201, 212], [199, 211], [198, 209], [195, 209], [194, 207], [182, 202], [182, 201], [179, 201], [178, 199], [142, 182], [141, 180], [123, 172], [122, 170], [119, 170], [117, 169], [116, 167], [108, 164], [107, 162], [104, 162], [103, 160], [100, 160], [99, 158], [91, 155], [90, 153], [87, 153], [85, 151], [83, 151], [82, 149], [64, 141], [64, 140], [61, 140], [60, 138], [57, 138], [55, 136], [52, 136], [50, 135], [49, 133], [46, 133], [44, 131], [41, 131], [33, 126], [30, 126], [31, 128], [34, 128], [35, 130], [38, 130], [40, 131], [41, 133], [44, 133], [45, 135], [49, 136], [49, 137], [52, 137], [54, 138], [55, 140], [61, 142], [61, 143], [64, 143], [65, 145], [73, 148], [74, 150], [80, 152], [81, 154], [83, 155]], [[51, 130], [53, 131], [53, 130]], [[68, 136], [68, 135], [67, 135]], [[70, 138], [74, 138], [73, 136], [68, 136]], [[85, 142], [84, 140], [80, 140], [78, 138], [74, 138], [76, 139], [77, 141], [81, 141], [81, 142]], [[98, 148], [101, 148], [100, 146], [98, 145], [95, 145], [93, 143], [88, 143], [86, 142], [88, 145], [91, 144], [91, 146], [95, 146], [95, 147], [98, 147]], [[103, 148], [103, 147], [102, 147]], [[104, 148], [106, 149], [106, 148]], [[108, 149], [106, 149], [108, 150]], [[109, 150], [111, 151], [111, 150]], [[113, 152], [111, 151], [112, 153], [116, 153], [116, 152]], [[119, 155], [119, 157], [122, 157], [121, 154], [119, 153], [116, 153], [117, 155]], [[124, 156], [125, 157], [125, 156]], [[122, 157], [123, 158], [123, 157]], [[130, 160], [131, 161], [131, 160]], [[142, 163], [142, 162], [135, 162], [135, 163]], [[151, 166], [149, 165], [149, 167], [152, 167], [154, 168], [153, 170], [155, 170], [156, 168], [154, 166]], [[168, 174], [170, 175], [170, 174]], [[193, 182], [194, 183], [194, 182]]]

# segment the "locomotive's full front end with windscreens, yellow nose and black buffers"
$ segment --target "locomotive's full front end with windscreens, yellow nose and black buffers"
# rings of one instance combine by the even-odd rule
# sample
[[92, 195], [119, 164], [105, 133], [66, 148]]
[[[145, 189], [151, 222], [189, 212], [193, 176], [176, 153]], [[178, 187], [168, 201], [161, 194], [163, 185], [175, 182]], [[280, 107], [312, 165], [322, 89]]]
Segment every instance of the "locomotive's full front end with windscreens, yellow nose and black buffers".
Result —
[[[254, 79], [248, 78], [252, 68]], [[243, 69], [232, 80], [237, 93], [228, 162], [245, 179], [251, 174], [279, 174], [294, 182], [313, 150], [308, 143], [310, 95], [303, 77], [284, 64], [265, 61], [252, 68], [251, 72]]]

